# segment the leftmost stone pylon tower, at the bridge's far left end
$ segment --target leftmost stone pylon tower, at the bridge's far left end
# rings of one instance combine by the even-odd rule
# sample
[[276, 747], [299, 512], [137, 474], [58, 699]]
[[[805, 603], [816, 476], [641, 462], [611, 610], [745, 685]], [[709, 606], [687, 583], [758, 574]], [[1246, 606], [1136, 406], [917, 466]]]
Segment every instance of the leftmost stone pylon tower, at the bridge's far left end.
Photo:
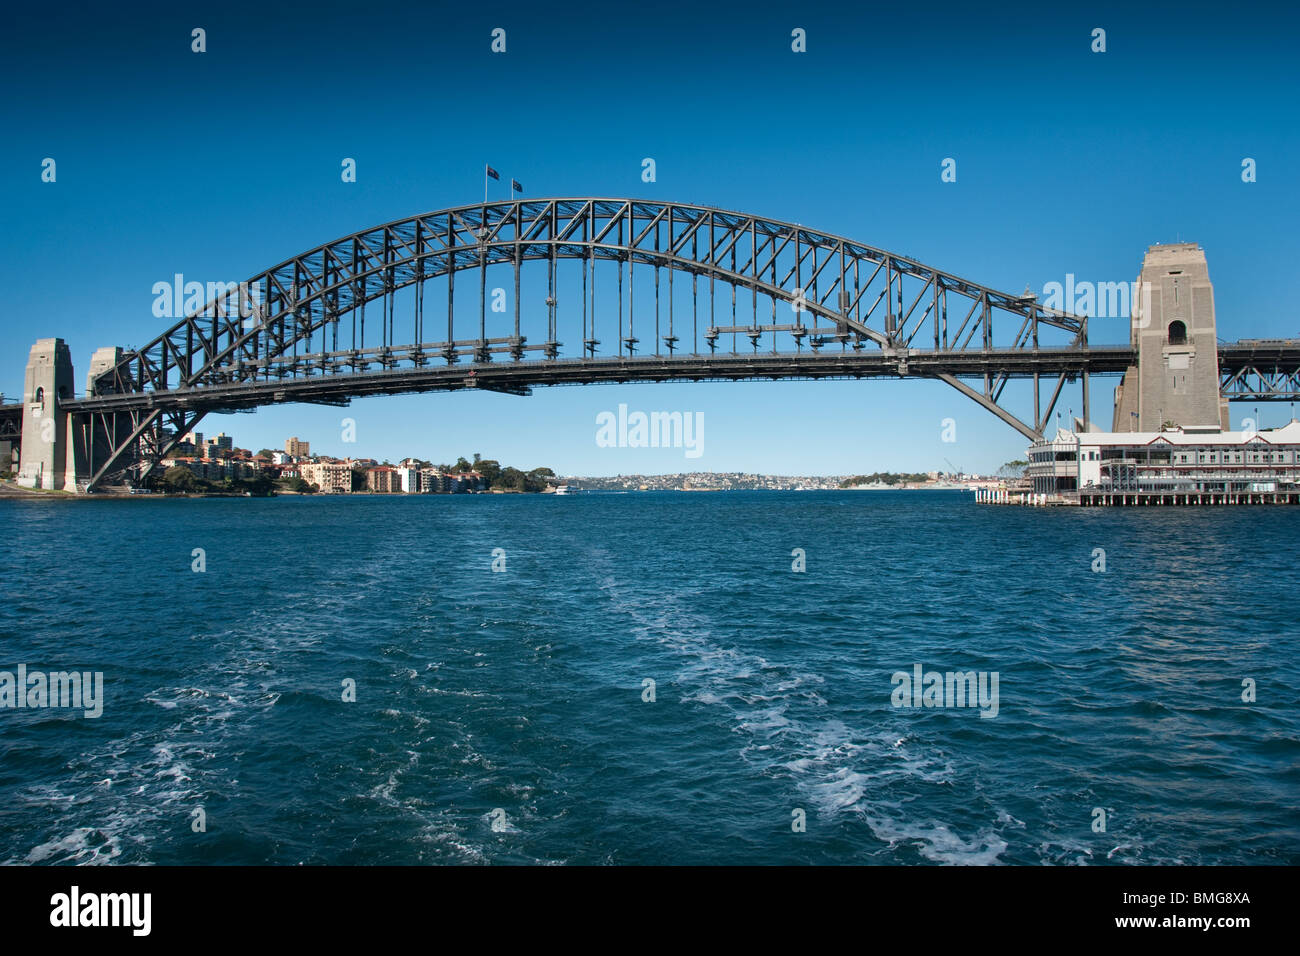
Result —
[[47, 490], [65, 486], [69, 415], [60, 410], [60, 403], [72, 398], [73, 359], [68, 343], [61, 338], [39, 339], [31, 346], [23, 378], [20, 485]]

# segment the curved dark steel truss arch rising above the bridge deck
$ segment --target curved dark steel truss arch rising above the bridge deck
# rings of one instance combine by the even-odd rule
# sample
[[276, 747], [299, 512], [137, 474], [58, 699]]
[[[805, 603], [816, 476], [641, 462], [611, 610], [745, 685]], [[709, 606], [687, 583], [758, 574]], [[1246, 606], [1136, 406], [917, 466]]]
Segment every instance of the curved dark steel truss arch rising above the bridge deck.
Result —
[[[706, 225], [710, 238], [703, 255], [694, 243], [688, 254], [688, 241]], [[742, 242], [746, 237], [749, 243]], [[786, 255], [792, 242], [793, 256]], [[745, 250], [748, 259], [729, 263], [738, 250]], [[790, 260], [790, 269], [784, 280], [775, 281], [783, 255]], [[312, 347], [313, 341], [324, 337], [326, 326], [337, 332], [341, 316], [415, 282], [448, 272], [550, 258], [667, 267], [745, 289], [755, 302], [764, 295], [774, 303], [789, 303], [798, 289], [806, 289], [802, 297], [806, 312], [832, 326], [848, 324], [861, 336], [859, 342], [871, 339], [884, 345], [893, 338], [910, 342], [922, 324], [935, 321], [940, 347], [968, 347], [971, 337], [961, 343], [946, 341], [933, 302], [905, 337], [906, 325], [927, 290], [937, 293], [942, 287], [945, 313], [948, 295], [971, 299], [972, 313], [976, 303], [983, 306], [976, 320], [984, 332], [980, 347], [992, 345], [994, 313], [1019, 320], [1020, 329], [1030, 328], [1035, 339], [1043, 323], [1072, 333], [1075, 342], [1083, 343], [1084, 325], [1078, 316], [1046, 311], [1023, 297], [796, 224], [677, 203], [520, 199], [389, 222], [289, 259], [234, 289], [225, 286], [202, 310], [185, 316], [144, 347], [125, 354], [116, 368], [99, 377], [95, 392], [166, 390], [214, 384], [230, 376], [247, 378], [268, 362], [292, 355], [298, 346], [318, 351]], [[805, 274], [810, 258], [816, 264]], [[893, 302], [887, 303], [887, 316], [892, 319], [881, 328], [870, 328], [863, 321], [861, 303], [871, 293], [871, 284], [880, 281], [881, 267], [887, 293], [897, 294], [897, 311]], [[859, 284], [863, 272], [870, 272], [867, 286]], [[771, 278], [764, 278], [766, 273]], [[849, 289], [850, 276], [854, 291], [846, 297], [844, 308], [829, 304], [836, 291]], [[910, 307], [904, 300], [906, 282], [914, 285], [907, 291]], [[898, 326], [887, 328], [893, 320], [898, 320]], [[364, 349], [365, 343], [354, 341], [352, 347]]]

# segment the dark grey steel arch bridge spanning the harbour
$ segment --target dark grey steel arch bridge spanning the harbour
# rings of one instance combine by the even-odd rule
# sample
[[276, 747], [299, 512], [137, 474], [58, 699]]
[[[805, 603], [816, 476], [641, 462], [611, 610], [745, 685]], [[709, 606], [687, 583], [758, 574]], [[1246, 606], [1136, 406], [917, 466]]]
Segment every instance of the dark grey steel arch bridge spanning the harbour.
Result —
[[[143, 347], [96, 351], [83, 397], [61, 339], [38, 342], [23, 405], [0, 408], [26, 480], [143, 481], [212, 412], [630, 381], [937, 378], [1032, 441], [1066, 384], [1088, 421], [1089, 376], [1138, 362], [1028, 293], [800, 224], [640, 199], [424, 213], [205, 291]], [[1300, 341], [1221, 343], [1218, 363], [1226, 397], [1300, 393]], [[1032, 384], [1028, 420], [1008, 407], [1011, 380]]]

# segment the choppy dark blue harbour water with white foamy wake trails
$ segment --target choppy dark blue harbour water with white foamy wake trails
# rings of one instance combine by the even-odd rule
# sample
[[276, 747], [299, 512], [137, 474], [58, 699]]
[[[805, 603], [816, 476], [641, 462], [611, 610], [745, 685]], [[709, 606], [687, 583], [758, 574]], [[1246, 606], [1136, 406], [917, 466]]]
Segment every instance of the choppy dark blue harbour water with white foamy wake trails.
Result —
[[[941, 492], [4, 499], [0, 669], [107, 701], [0, 710], [0, 862], [1296, 864], [1297, 531]], [[996, 671], [997, 717], [892, 706], [915, 663]]]

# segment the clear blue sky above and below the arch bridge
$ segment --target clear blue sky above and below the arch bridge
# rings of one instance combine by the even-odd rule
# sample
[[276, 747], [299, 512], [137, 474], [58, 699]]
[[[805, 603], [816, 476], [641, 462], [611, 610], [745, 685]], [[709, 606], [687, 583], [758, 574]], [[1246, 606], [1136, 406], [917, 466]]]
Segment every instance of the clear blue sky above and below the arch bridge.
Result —
[[[287, 5], [286, 5], [287, 7]], [[243, 280], [321, 242], [482, 195], [698, 202], [849, 235], [1000, 289], [1131, 281], [1197, 241], [1221, 338], [1300, 334], [1297, 14], [1176, 4], [35, 5], [0, 38], [0, 390], [60, 336], [90, 354], [166, 320], [152, 286]], [[205, 53], [190, 31], [207, 30]], [[489, 49], [494, 27], [507, 52]], [[790, 31], [807, 31], [807, 52]], [[1093, 27], [1106, 52], [1091, 51]], [[57, 182], [40, 181], [44, 157]], [[339, 164], [358, 161], [358, 182]], [[656, 182], [641, 181], [654, 157]], [[940, 182], [944, 157], [956, 183]], [[1242, 160], [1257, 182], [1242, 182]], [[495, 186], [495, 185], [494, 185]], [[498, 187], [499, 190], [499, 187]], [[499, 196], [504, 190], [499, 190]], [[1123, 320], [1092, 324], [1123, 342]], [[1109, 423], [1114, 378], [1093, 381]], [[1009, 388], [1028, 418], [1028, 386]], [[703, 412], [705, 454], [604, 449], [595, 416]], [[1061, 402], [1078, 412], [1078, 390]], [[1280, 423], [1286, 405], [1261, 408]], [[1234, 408], [1234, 419], [1249, 414]], [[356, 420], [344, 445], [341, 420]], [[941, 421], [957, 441], [941, 441]], [[209, 416], [246, 447], [563, 473], [988, 471], [1024, 441], [935, 381], [428, 394]]]

